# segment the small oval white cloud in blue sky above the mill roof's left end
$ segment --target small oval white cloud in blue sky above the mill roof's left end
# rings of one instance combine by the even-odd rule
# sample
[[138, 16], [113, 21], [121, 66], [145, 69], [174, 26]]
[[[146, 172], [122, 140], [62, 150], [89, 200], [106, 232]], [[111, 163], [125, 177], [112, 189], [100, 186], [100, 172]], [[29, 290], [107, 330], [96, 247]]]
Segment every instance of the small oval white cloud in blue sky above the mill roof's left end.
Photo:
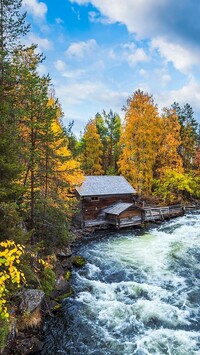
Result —
[[73, 42], [70, 44], [65, 54], [69, 57], [83, 58], [91, 54], [97, 48], [97, 43], [94, 39], [89, 39], [86, 42]]

